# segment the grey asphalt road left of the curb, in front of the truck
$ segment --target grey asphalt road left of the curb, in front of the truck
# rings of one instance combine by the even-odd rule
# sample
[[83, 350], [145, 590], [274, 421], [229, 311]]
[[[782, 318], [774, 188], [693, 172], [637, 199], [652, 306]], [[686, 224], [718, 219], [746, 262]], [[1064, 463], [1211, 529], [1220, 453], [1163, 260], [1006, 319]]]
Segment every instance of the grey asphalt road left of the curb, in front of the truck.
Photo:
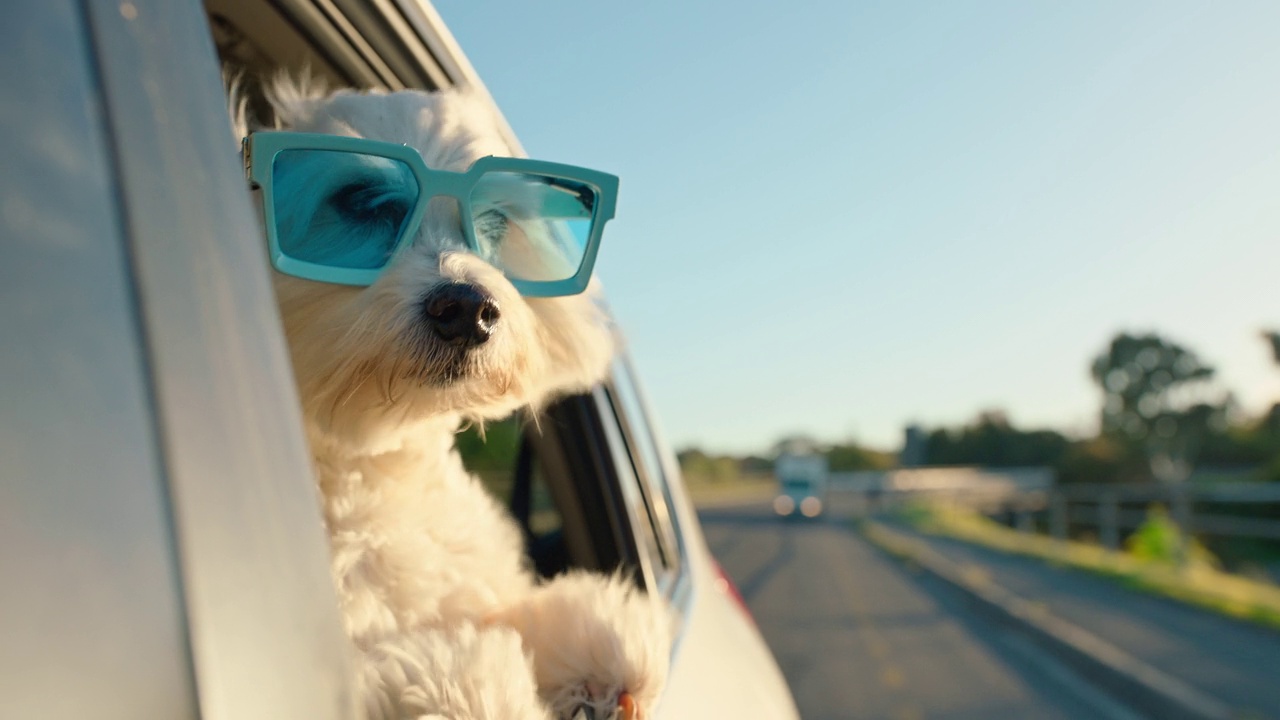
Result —
[[700, 512], [805, 720], [1120, 719], [1128, 712], [844, 521]]

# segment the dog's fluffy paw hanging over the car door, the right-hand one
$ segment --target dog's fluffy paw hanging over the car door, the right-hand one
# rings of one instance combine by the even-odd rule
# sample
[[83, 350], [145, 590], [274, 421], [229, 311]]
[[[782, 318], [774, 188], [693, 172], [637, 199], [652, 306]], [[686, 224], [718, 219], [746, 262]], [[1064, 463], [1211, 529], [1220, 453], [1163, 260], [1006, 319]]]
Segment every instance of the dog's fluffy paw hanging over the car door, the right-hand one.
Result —
[[493, 620], [520, 632], [538, 692], [556, 717], [652, 717], [667, 679], [672, 616], [628, 579], [575, 571], [536, 588]]

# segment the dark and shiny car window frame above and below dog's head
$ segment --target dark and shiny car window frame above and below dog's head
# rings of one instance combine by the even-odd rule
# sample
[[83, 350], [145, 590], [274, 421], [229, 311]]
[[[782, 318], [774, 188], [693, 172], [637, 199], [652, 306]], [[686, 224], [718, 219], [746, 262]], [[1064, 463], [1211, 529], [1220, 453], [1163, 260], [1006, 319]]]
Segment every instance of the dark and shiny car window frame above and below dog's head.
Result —
[[[216, 4], [216, 3], [215, 3]], [[436, 90], [463, 85], [488, 97], [488, 91], [457, 47], [435, 10], [426, 4], [379, 0], [378, 10], [351, 0], [311, 3], [271, 0], [316, 56], [352, 85], [397, 90]], [[323, 8], [321, 8], [323, 5]], [[323, 12], [321, 12], [323, 10]], [[381, 13], [381, 17], [374, 17]], [[361, 28], [375, 27], [380, 40], [370, 42]], [[375, 35], [378, 35], [375, 33]], [[383, 58], [381, 44], [393, 38], [394, 58]], [[421, 47], [406, 45], [421, 44]], [[430, 63], [424, 72], [406, 72], [406, 58]], [[412, 70], [412, 68], [410, 68]], [[524, 150], [506, 119], [488, 97], [512, 155]], [[669, 466], [630, 359], [620, 342], [611, 377], [590, 392], [562, 400], [547, 409], [539, 427], [526, 433], [534, 461], [543, 465], [564, 523], [566, 542], [576, 548], [579, 565], [603, 571], [622, 569], [636, 582], [673, 601], [689, 594], [690, 577], [685, 539], [671, 497], [678, 482]], [[631, 388], [620, 388], [618, 373]], [[636, 407], [618, 398], [630, 392]], [[648, 443], [649, 457], [637, 448]], [[556, 478], [563, 478], [557, 482]], [[564, 482], [567, 480], [567, 482]], [[649, 550], [653, 536], [659, 557]], [[663, 562], [663, 559], [668, 559]]]

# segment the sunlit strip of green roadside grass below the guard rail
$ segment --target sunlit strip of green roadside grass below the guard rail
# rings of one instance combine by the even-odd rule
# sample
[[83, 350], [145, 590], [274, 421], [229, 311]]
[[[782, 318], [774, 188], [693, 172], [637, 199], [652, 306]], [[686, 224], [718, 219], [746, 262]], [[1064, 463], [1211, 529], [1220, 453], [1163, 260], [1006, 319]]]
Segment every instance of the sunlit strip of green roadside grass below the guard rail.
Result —
[[1194, 552], [1190, 561], [1178, 566], [1167, 560], [1143, 559], [1093, 543], [1021, 533], [972, 510], [941, 503], [909, 505], [897, 518], [927, 534], [1084, 570], [1140, 592], [1280, 630], [1280, 587], [1225, 573], [1213, 562], [1197, 559]]

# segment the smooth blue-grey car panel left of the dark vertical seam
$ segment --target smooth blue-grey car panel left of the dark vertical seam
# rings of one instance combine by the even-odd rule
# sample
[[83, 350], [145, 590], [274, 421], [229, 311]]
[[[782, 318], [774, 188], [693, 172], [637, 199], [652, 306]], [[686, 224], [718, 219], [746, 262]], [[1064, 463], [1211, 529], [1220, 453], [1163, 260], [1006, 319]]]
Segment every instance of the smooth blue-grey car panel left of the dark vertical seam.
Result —
[[196, 717], [87, 38], [68, 0], [0, 23], [0, 717]]

